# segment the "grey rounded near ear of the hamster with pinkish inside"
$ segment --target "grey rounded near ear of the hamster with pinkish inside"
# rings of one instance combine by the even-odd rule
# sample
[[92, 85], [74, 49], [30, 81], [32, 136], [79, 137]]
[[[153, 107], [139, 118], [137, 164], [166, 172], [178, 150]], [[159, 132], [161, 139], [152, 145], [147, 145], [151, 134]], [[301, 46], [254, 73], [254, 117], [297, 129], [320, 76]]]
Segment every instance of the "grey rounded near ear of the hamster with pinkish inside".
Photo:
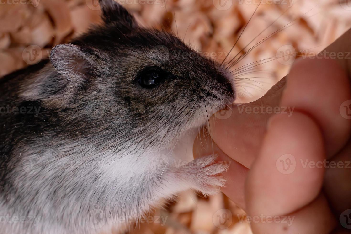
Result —
[[76, 83], [87, 79], [92, 69], [97, 67], [92, 54], [72, 44], [60, 44], [52, 48], [50, 61], [68, 81], [75, 80]]

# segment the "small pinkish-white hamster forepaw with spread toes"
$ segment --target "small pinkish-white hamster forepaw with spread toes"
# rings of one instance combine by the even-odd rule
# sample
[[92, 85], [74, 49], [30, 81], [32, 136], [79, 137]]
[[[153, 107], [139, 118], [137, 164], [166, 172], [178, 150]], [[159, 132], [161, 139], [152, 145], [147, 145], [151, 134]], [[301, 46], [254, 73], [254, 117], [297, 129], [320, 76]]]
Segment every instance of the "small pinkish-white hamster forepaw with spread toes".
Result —
[[226, 180], [218, 174], [228, 170], [225, 162], [216, 163], [216, 156], [207, 156], [193, 160], [189, 163], [188, 172], [193, 182], [192, 188], [204, 195], [218, 193], [219, 187], [223, 187]]

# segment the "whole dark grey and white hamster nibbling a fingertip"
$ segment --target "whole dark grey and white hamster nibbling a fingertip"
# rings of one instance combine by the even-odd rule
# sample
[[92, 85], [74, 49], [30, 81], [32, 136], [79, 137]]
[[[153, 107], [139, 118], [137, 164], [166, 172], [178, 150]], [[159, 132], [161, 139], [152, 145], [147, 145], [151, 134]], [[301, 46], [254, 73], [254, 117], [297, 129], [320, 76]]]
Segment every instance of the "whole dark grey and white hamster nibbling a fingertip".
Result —
[[215, 156], [176, 163], [175, 148], [235, 99], [230, 73], [100, 4], [102, 25], [0, 80], [4, 233], [101, 233], [180, 191], [224, 185]]

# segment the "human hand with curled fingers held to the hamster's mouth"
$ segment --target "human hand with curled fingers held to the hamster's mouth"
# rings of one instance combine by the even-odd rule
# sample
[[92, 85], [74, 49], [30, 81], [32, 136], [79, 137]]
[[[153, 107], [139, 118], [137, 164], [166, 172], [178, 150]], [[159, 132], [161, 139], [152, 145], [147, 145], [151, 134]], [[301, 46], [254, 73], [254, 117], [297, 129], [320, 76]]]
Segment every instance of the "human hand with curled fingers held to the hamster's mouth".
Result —
[[[261, 99], [233, 105], [227, 119], [212, 116], [210, 136], [194, 142], [195, 158], [215, 153], [230, 163], [222, 191], [248, 215], [294, 218], [252, 222], [254, 233], [351, 228], [351, 29], [326, 51], [345, 58], [298, 60]], [[290, 111], [245, 112], [261, 106]]]

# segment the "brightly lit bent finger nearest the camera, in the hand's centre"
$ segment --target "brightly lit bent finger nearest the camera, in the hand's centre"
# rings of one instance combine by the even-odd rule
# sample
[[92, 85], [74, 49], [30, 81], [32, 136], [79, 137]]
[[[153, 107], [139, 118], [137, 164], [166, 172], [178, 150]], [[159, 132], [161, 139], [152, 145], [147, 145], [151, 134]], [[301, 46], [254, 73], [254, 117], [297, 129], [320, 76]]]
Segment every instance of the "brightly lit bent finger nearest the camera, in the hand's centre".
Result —
[[250, 214], [285, 215], [306, 206], [320, 192], [324, 159], [322, 134], [308, 116], [295, 112], [270, 120], [261, 152], [246, 182]]

